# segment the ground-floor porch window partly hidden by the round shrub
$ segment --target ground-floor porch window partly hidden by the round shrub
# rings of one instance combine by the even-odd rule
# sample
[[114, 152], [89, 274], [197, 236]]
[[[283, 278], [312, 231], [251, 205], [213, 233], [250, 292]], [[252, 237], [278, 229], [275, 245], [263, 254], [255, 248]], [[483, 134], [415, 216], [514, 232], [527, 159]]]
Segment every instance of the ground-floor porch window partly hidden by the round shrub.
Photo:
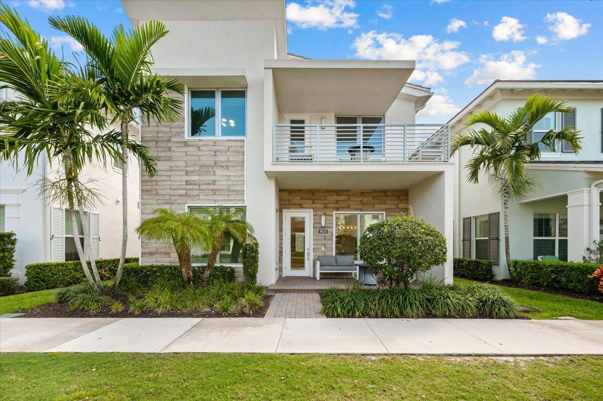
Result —
[[383, 212], [335, 212], [335, 229], [333, 235], [333, 249], [336, 255], [352, 255], [355, 260], [360, 260], [358, 251], [360, 238], [364, 230], [371, 224], [385, 218]]

